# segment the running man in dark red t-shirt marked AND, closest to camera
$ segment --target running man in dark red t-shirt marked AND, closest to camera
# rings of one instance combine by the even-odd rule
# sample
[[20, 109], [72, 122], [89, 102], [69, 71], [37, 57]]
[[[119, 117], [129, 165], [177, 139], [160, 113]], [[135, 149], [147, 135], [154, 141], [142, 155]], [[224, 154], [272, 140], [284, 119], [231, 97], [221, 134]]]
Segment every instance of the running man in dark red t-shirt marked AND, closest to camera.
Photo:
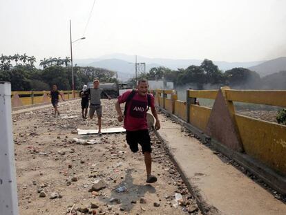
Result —
[[[142, 147], [144, 160], [146, 165], [147, 180], [146, 183], [155, 183], [157, 178], [151, 175], [151, 140], [148, 131], [148, 124], [146, 119], [146, 111], [148, 105], [148, 81], [142, 79], [138, 81], [137, 90], [135, 94], [128, 101], [128, 97], [132, 91], [127, 91], [118, 97], [115, 103], [115, 109], [118, 113], [118, 121], [122, 122], [124, 119], [124, 129], [126, 129], [126, 141], [133, 152], [138, 151], [138, 143]], [[153, 116], [156, 119], [155, 129], [160, 129], [160, 121], [158, 119], [157, 111], [155, 109], [154, 97], [151, 97], [150, 108]], [[122, 115], [120, 104], [126, 102], [126, 113]]]

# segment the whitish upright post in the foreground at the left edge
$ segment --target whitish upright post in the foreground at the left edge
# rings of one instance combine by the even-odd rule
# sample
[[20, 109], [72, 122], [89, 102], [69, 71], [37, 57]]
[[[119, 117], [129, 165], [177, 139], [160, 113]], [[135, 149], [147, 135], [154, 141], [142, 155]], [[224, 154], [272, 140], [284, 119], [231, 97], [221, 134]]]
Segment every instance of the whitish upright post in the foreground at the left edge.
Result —
[[12, 135], [11, 84], [0, 81], [0, 214], [17, 215], [15, 151]]

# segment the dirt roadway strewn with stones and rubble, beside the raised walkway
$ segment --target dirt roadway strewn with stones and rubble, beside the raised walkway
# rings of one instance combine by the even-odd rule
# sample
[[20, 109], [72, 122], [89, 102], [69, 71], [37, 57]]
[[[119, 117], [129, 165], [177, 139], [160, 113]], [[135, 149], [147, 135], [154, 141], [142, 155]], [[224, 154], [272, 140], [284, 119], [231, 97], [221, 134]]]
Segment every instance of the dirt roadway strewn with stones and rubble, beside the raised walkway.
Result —
[[[103, 100], [102, 130], [122, 129], [114, 102]], [[152, 174], [158, 181], [146, 185], [141, 147], [131, 152], [122, 130], [101, 137], [79, 135], [78, 127], [97, 129], [96, 118], [82, 120], [81, 111], [75, 100], [61, 104], [61, 116], [77, 118], [53, 118], [52, 106], [12, 116], [21, 215], [201, 214], [153, 131]]]

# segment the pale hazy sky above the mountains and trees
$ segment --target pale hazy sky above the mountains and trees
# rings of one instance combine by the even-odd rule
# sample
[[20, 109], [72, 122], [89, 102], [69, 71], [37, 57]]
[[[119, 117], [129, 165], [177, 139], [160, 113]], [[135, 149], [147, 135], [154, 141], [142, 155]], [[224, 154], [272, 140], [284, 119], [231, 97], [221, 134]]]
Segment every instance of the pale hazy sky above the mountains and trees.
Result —
[[0, 54], [111, 53], [254, 61], [286, 56], [285, 0], [0, 0]]

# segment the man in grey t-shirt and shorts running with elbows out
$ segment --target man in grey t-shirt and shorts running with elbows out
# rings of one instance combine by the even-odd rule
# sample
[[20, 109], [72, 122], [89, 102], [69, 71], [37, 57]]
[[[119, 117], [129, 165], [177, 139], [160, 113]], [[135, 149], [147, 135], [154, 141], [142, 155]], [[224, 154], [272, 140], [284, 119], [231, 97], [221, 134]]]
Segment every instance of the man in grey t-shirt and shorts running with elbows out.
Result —
[[97, 115], [98, 120], [98, 135], [102, 135], [102, 102], [100, 101], [101, 95], [104, 93], [108, 100], [111, 100], [111, 97], [104, 92], [103, 88], [99, 88], [99, 80], [93, 81], [93, 88], [88, 88], [83, 94], [89, 95], [90, 97], [90, 106], [89, 106], [89, 118], [93, 119], [93, 116]]

